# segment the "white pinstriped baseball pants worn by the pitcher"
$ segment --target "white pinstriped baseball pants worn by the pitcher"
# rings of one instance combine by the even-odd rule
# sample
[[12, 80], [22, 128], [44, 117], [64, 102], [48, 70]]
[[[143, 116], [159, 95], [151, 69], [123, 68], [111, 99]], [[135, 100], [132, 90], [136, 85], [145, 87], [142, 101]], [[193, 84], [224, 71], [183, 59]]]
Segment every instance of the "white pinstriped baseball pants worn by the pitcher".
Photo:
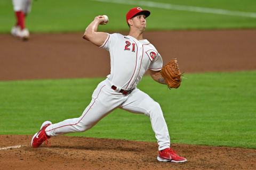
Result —
[[70, 132], [84, 132], [92, 128], [114, 109], [122, 108], [132, 113], [149, 116], [159, 145], [158, 149], [169, 148], [169, 132], [159, 104], [137, 88], [130, 95], [124, 96], [122, 93], [111, 89], [112, 85], [108, 79], [99, 83], [92, 94], [90, 105], [85, 108], [80, 117], [52, 124], [46, 128], [46, 134], [54, 136]]

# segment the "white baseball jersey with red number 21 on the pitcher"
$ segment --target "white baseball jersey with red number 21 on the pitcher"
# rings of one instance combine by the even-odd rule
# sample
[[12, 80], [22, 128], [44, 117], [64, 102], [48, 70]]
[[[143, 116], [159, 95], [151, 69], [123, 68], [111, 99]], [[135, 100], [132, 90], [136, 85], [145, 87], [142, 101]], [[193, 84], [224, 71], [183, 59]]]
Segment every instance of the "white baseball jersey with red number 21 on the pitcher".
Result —
[[148, 69], [161, 70], [163, 60], [148, 40], [137, 40], [119, 33], [108, 34], [100, 46], [110, 53], [111, 72], [108, 79], [116, 87], [133, 89]]

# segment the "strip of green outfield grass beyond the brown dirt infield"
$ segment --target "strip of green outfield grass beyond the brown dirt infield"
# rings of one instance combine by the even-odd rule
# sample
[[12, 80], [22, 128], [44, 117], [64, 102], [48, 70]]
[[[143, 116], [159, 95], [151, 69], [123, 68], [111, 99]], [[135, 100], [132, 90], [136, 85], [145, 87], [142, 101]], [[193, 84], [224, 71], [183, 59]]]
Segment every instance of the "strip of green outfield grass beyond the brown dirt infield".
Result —
[[[120, 0], [115, 2], [119, 3], [98, 2], [95, 0], [34, 1], [32, 11], [27, 17], [27, 27], [30, 32], [82, 31], [95, 16], [107, 14], [109, 16], [109, 24], [101, 26], [99, 30], [128, 30], [125, 15], [130, 8], [140, 6], [151, 11], [151, 16], [147, 19], [147, 30], [256, 28], [256, 1], [254, 0], [150, 0], [147, 2]], [[124, 4], [131, 2], [133, 4]], [[155, 4], [150, 6], [150, 2], [158, 3], [158, 5], [159, 3], [164, 4], [162, 4], [162, 7], [157, 7]], [[254, 13], [255, 18], [163, 8], [169, 4], [250, 12]], [[10, 0], [0, 2], [0, 33], [9, 33], [15, 23], [12, 8]]]

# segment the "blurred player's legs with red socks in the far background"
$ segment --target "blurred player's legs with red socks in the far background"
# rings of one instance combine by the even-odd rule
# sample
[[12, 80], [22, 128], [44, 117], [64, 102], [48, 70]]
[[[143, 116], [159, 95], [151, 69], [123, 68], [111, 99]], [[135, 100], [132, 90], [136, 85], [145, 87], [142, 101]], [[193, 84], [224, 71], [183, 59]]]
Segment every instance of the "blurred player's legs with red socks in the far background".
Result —
[[22, 40], [28, 40], [29, 31], [25, 27], [25, 18], [31, 10], [32, 0], [12, 0], [12, 4], [17, 22], [12, 27], [11, 33]]

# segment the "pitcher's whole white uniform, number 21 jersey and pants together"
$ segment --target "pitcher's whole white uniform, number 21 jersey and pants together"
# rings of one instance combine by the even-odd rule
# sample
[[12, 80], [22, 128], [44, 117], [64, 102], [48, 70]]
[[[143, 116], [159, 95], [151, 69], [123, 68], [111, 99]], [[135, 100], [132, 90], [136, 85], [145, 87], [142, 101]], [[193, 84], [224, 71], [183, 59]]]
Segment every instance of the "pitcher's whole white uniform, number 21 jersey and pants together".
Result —
[[[110, 75], [98, 84], [92, 94], [91, 103], [80, 117], [51, 124], [47, 126], [45, 133], [54, 136], [84, 132], [114, 109], [121, 108], [149, 116], [159, 145], [158, 149], [169, 148], [169, 132], [160, 105], [145, 92], [136, 88], [148, 69], [162, 69], [163, 61], [156, 48], [148, 40], [137, 40], [119, 33], [108, 34], [100, 47], [109, 50]], [[113, 85], [119, 90], [113, 90], [111, 88]], [[131, 94], [124, 95], [119, 92], [121, 88], [134, 89]]]

